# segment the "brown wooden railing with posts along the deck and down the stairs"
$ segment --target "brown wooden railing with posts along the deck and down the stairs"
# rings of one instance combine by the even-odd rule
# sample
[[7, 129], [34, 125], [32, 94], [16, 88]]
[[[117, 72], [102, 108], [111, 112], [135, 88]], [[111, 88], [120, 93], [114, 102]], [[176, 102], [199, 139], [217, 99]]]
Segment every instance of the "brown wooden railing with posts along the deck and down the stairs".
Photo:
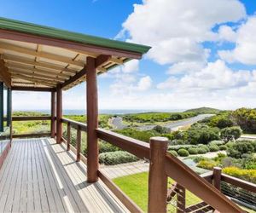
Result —
[[[23, 118], [17, 119], [22, 120]], [[32, 120], [32, 118], [30, 119]], [[37, 118], [37, 120], [39, 119], [40, 118]], [[43, 119], [49, 119], [49, 117]], [[86, 131], [87, 125], [67, 118], [61, 118], [61, 123], [67, 124], [67, 140], [62, 137], [62, 141], [67, 144], [67, 150], [72, 150], [76, 153], [77, 161], [82, 160], [85, 164], [88, 163], [87, 159], [81, 153], [81, 131]], [[75, 147], [71, 144], [71, 128], [77, 131]], [[167, 199], [172, 199], [172, 196], [175, 194], [177, 195], [177, 212], [197, 210], [197, 208], [202, 205], [205, 205], [206, 208], [218, 210], [220, 212], [242, 212], [238, 205], [221, 193], [219, 180], [238, 185], [245, 189], [251, 189], [253, 186], [253, 192], [256, 190], [254, 185], [221, 174], [218, 170], [214, 170], [212, 174], [198, 176], [178, 158], [175, 158], [170, 153], [166, 152], [166, 138], [154, 137], [151, 138], [150, 143], [148, 144], [101, 128], [96, 129], [96, 135], [98, 139], [107, 141], [126, 152], [134, 154], [137, 158], [147, 158], [150, 161], [148, 173], [149, 212], [166, 212]], [[143, 211], [137, 206], [137, 204], [127, 197], [125, 193], [123, 193], [101, 169], [98, 170], [98, 176], [117, 196], [117, 198], [125, 204], [128, 210], [131, 210], [132, 212]], [[172, 186], [172, 188], [175, 189], [175, 192], [172, 188], [167, 191], [168, 177], [171, 177], [177, 182]], [[202, 199], [203, 202], [186, 207], [186, 189]], [[172, 196], [170, 197], [170, 195]]]

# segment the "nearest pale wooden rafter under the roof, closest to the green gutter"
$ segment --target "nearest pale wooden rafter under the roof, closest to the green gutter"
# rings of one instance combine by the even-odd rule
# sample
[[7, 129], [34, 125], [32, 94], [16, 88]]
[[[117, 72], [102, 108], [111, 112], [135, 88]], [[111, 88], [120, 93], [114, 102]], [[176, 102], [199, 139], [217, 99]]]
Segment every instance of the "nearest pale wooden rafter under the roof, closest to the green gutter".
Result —
[[44, 52], [37, 52], [35, 50], [23, 48], [23, 47], [14, 45], [14, 44], [0, 42], [0, 48], [15, 51], [15, 52], [26, 54], [26, 55], [32, 55], [35, 57], [42, 57], [42, 58], [49, 59], [49, 60], [56, 60], [56, 61], [60, 61], [63, 63], [75, 65], [75, 66], [81, 66], [81, 67], [84, 66], [83, 62], [77, 61], [77, 60], [71, 60], [70, 58], [68, 58], [66, 56], [54, 55], [54, 54], [49, 54], [49, 53], [44, 53]]

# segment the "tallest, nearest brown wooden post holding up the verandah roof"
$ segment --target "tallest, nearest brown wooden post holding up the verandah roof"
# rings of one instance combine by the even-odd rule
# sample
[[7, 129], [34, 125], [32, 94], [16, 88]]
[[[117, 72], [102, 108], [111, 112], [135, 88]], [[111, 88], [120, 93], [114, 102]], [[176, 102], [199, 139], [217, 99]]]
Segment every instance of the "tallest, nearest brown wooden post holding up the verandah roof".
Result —
[[98, 95], [96, 80], [96, 60], [87, 57], [86, 61], [86, 103], [87, 103], [87, 181], [98, 181], [99, 147], [96, 135], [98, 127]]

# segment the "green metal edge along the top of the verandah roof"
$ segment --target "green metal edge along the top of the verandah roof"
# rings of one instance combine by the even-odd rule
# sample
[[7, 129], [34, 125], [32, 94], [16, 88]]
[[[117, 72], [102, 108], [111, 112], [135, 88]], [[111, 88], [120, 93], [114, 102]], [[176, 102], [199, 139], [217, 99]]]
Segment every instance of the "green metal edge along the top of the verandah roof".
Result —
[[54, 27], [36, 25], [20, 20], [10, 20], [3, 17], [0, 17], [0, 29], [11, 30], [15, 32], [25, 32], [38, 36], [53, 37], [57, 39], [72, 41], [76, 43], [91, 44], [110, 49], [122, 49], [126, 51], [137, 52], [142, 55], [147, 53], [151, 48], [142, 44], [126, 43], [104, 37], [85, 35], [79, 32], [69, 32], [66, 30], [56, 29]]

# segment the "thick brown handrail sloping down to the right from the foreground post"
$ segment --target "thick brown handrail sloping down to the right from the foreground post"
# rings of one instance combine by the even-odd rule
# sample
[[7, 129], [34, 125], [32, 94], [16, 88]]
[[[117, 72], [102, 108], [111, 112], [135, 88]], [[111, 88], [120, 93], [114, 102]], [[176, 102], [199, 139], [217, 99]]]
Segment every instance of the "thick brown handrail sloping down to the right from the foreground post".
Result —
[[170, 176], [191, 193], [210, 204], [215, 210], [220, 212], [243, 212], [240, 207], [226, 198], [223, 193], [198, 176], [189, 166], [182, 161], [166, 153], [166, 175]]

